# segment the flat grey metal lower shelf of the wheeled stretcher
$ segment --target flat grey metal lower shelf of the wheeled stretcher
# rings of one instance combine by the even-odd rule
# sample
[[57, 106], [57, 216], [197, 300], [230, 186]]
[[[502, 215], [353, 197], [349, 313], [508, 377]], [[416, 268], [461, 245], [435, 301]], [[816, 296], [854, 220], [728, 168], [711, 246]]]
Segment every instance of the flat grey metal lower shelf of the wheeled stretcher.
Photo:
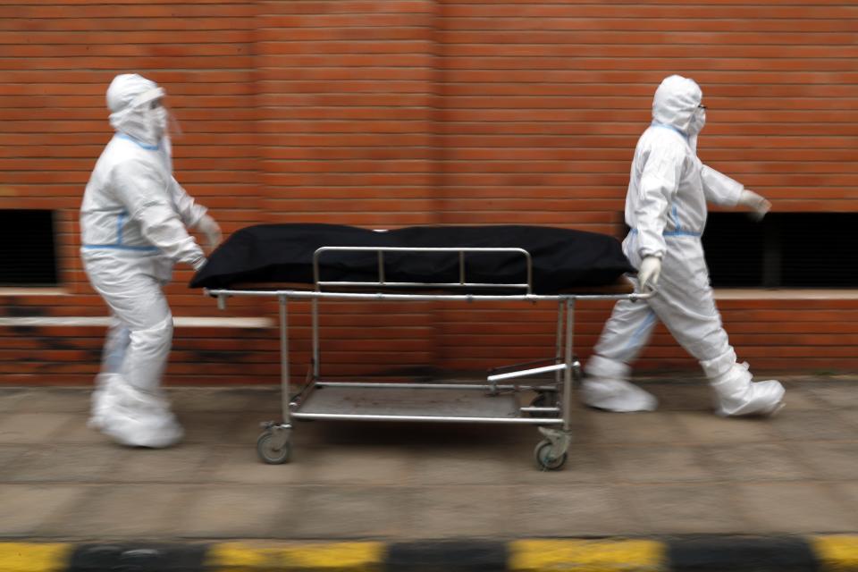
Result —
[[[489, 394], [488, 385], [467, 383], [315, 383], [306, 400], [292, 406], [296, 419], [431, 421], [559, 425], [561, 418], [534, 418], [522, 411], [519, 393]], [[554, 415], [559, 409], [554, 408]]]

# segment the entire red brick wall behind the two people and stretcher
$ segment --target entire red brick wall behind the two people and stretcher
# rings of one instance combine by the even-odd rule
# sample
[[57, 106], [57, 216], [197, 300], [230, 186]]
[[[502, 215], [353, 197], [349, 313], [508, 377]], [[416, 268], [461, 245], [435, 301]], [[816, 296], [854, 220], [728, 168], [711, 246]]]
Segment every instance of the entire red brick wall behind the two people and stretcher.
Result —
[[[15, 0], [0, 6], [0, 208], [57, 211], [61, 297], [5, 315], [105, 315], [77, 257], [77, 208], [110, 137], [118, 72], [163, 84], [177, 178], [234, 231], [317, 221], [391, 228], [523, 223], [618, 235], [635, 140], [669, 73], [709, 105], [700, 156], [777, 210], [858, 210], [858, 7], [841, 2]], [[169, 289], [175, 315], [226, 313]], [[306, 304], [293, 304], [297, 374]], [[756, 369], [854, 369], [858, 302], [724, 300]], [[552, 307], [326, 304], [332, 374], [549, 357]], [[581, 303], [576, 345], [610, 311]], [[270, 330], [179, 328], [173, 383], [278, 374]], [[0, 327], [0, 383], [88, 383], [101, 328]], [[57, 353], [60, 352], [60, 353]], [[642, 370], [694, 370], [660, 329]]]

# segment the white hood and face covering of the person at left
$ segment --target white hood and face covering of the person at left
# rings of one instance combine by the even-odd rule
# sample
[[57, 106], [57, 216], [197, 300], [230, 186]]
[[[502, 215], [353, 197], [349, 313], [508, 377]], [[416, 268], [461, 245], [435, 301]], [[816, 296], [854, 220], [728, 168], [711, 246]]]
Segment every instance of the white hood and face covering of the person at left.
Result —
[[112, 112], [110, 124], [118, 133], [158, 147], [164, 137], [166, 118], [163, 109], [150, 109], [150, 104], [164, 95], [164, 89], [156, 82], [136, 73], [116, 76], [107, 88], [107, 107]]

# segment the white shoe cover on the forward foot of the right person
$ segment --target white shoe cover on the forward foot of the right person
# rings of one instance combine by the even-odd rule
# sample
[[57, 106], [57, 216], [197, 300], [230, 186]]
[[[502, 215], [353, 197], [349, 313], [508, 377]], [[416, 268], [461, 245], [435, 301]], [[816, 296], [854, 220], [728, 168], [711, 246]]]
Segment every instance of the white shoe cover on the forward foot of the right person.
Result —
[[751, 381], [748, 365], [736, 364], [713, 382], [715, 413], [719, 416], [770, 416], [783, 407], [784, 386], [776, 380]]

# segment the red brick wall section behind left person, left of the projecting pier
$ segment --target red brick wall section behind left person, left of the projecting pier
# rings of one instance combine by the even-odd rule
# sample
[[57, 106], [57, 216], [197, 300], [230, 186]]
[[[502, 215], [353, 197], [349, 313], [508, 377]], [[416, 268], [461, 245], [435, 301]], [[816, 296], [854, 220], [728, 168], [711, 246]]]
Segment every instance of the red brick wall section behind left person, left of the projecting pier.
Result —
[[[177, 178], [213, 210], [224, 231], [259, 220], [256, 14], [253, 2], [211, 0], [0, 6], [0, 208], [55, 209], [68, 292], [3, 296], [4, 315], [106, 315], [80, 269], [77, 211], [89, 172], [112, 136], [105, 90], [117, 73], [137, 71], [167, 89], [183, 131], [175, 140]], [[210, 300], [185, 287], [190, 275], [177, 268], [168, 289], [173, 314], [216, 315]], [[239, 303], [230, 315], [257, 315], [257, 306]], [[104, 332], [0, 328], [0, 344], [9, 349], [0, 355], [0, 383], [90, 383]], [[221, 351], [213, 338], [227, 332], [234, 340]], [[259, 369], [252, 362], [267, 359], [250, 355], [247, 336], [238, 329], [179, 329], [171, 379], [246, 379], [246, 372]]]

